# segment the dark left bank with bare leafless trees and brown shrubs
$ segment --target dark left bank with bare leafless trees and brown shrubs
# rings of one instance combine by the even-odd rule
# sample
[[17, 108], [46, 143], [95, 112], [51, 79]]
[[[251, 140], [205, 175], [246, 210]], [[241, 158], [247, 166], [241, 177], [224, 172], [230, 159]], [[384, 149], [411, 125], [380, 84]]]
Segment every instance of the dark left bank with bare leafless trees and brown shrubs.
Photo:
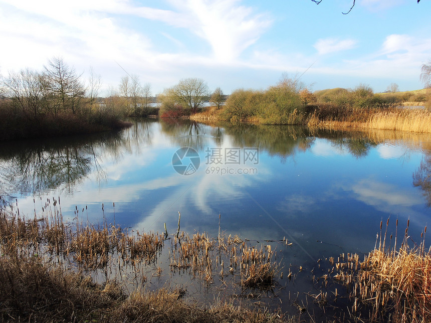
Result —
[[0, 93], [0, 140], [52, 137], [106, 131], [127, 126], [124, 114], [97, 100], [100, 76], [81, 75], [62, 58], [43, 71], [10, 72]]

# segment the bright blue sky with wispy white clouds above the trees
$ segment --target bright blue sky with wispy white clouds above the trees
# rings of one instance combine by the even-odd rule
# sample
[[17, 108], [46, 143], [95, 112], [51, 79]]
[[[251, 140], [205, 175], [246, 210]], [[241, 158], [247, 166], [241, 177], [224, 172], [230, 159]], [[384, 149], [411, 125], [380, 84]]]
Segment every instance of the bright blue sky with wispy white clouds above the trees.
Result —
[[283, 75], [312, 90], [423, 87], [431, 1], [0, 0], [0, 73], [62, 57], [102, 94], [137, 75], [152, 94], [184, 78], [211, 91], [266, 89]]

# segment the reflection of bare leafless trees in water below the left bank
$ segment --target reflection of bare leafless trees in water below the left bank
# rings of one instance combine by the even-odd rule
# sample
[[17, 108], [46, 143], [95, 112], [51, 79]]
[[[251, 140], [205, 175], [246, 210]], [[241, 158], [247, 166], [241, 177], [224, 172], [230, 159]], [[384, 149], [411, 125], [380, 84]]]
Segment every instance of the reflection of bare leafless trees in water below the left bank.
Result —
[[100, 165], [102, 151], [123, 145], [119, 133], [0, 145], [0, 196], [37, 196], [50, 190], [72, 194], [91, 172], [106, 181]]

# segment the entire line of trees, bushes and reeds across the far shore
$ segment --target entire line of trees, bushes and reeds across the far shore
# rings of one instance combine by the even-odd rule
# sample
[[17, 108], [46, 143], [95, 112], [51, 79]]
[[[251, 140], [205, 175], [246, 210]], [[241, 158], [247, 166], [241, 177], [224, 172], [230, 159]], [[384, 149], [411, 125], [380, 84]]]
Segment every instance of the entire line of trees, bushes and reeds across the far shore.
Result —
[[364, 122], [370, 113], [406, 102], [431, 102], [426, 89], [396, 92], [396, 84], [378, 94], [364, 84], [312, 92], [287, 75], [266, 90], [237, 89], [229, 96], [221, 88], [210, 93], [202, 79], [187, 78], [155, 97], [149, 83], [127, 75], [102, 98], [100, 75], [90, 70], [85, 82], [81, 76], [62, 58], [49, 60], [42, 71], [9, 73], [0, 86], [0, 140], [104, 131], [125, 126], [125, 117], [140, 116], [262, 124]]

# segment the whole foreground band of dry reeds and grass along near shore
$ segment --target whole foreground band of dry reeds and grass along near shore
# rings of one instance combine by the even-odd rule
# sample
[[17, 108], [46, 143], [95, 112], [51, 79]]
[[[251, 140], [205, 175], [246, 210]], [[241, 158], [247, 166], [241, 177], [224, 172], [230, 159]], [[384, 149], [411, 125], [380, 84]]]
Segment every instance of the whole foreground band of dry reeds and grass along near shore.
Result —
[[[16, 206], [8, 208], [0, 208], [2, 321], [304, 321], [304, 316], [290, 317], [280, 310], [252, 309], [242, 304], [256, 295], [277, 294], [281, 267], [274, 261], [271, 244], [250, 245], [220, 230], [216, 238], [198, 232], [165, 237], [121, 230], [106, 221], [93, 226], [80, 223], [76, 217], [76, 223], [68, 223], [63, 221], [57, 201], [47, 201], [41, 218], [35, 214], [33, 219], [26, 219]], [[325, 290], [306, 293], [324, 313], [328, 311], [322, 321], [431, 321], [431, 257], [424, 245], [426, 227], [421, 243], [409, 247], [409, 223], [402, 239], [397, 237], [397, 229], [394, 236], [387, 234], [388, 225], [389, 220], [386, 229], [380, 225], [375, 248], [363, 261], [357, 254], [340, 255], [338, 261], [330, 258], [333, 268], [318, 278]], [[282, 244], [292, 243], [283, 239]], [[165, 248], [170, 276], [178, 271], [187, 273], [205, 288], [218, 280], [223, 297], [204, 306], [189, 302], [183, 287], [148, 289], [144, 275], [148, 271], [142, 269], [163, 276], [158, 259]], [[289, 281], [296, 275], [291, 268]], [[299, 271], [303, 271], [302, 266]], [[124, 278], [127, 273], [133, 277]], [[335, 288], [330, 289], [331, 281], [336, 282]], [[231, 284], [236, 287], [228, 287]], [[338, 284], [347, 291], [341, 291]], [[300, 313], [309, 310], [304, 303], [294, 301], [291, 305]], [[307, 314], [311, 321], [318, 321], [311, 312]]]

